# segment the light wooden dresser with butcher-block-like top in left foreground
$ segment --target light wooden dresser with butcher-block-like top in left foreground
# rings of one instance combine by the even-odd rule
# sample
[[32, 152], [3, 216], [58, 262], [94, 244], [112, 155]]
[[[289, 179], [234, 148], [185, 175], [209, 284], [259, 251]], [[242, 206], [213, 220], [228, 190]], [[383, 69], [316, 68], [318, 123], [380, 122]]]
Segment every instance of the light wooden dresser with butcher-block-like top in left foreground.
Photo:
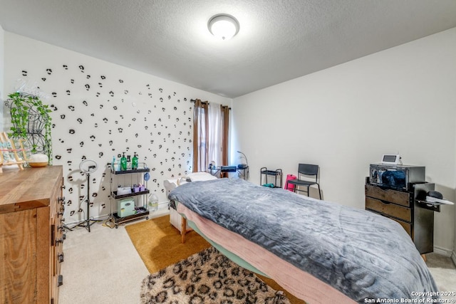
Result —
[[62, 166], [0, 174], [0, 303], [58, 303]]

